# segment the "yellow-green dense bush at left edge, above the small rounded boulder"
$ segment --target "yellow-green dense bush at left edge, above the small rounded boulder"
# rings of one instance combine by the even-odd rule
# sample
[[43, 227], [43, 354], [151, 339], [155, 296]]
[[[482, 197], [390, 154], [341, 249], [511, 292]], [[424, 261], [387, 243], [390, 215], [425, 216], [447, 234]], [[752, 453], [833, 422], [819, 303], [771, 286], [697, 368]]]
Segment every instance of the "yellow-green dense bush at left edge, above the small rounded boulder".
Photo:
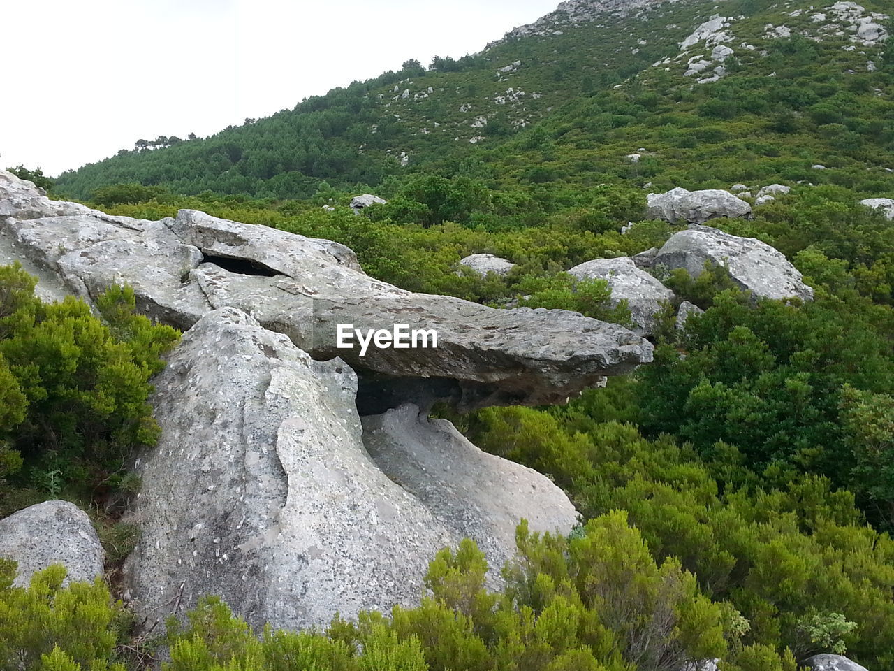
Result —
[[100, 296], [97, 319], [72, 297], [41, 302], [35, 285], [18, 265], [0, 268], [0, 495], [101, 497], [156, 440], [148, 379], [179, 335], [135, 314], [128, 289]]

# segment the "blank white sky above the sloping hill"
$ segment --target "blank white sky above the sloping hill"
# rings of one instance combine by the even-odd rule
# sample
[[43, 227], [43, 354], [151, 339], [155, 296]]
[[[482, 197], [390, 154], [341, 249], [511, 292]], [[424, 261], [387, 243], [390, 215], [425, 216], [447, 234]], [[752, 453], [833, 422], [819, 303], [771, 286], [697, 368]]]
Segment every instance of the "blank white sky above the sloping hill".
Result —
[[474, 53], [558, 0], [0, 0], [0, 167], [56, 175], [204, 137], [408, 58]]

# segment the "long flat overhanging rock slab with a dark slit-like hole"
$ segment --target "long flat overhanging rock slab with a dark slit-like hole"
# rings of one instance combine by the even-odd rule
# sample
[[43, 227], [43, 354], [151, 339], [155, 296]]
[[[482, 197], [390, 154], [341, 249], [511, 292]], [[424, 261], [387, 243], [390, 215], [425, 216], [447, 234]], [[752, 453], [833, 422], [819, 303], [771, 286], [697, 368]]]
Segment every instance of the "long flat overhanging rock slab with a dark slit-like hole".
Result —
[[[30, 191], [38, 205], [7, 206], [13, 215], [0, 222], [17, 258], [88, 301], [109, 286], [131, 285], [140, 311], [181, 329], [217, 308], [245, 310], [315, 359], [348, 361], [361, 377], [358, 403], [368, 403], [365, 413], [408, 398], [445, 399], [460, 408], [559, 403], [652, 359], [642, 338], [577, 313], [494, 310], [403, 291], [365, 275], [354, 253], [337, 242], [195, 210], [158, 222], [86, 208], [72, 214], [36, 200], [43, 197], [33, 185]], [[0, 201], [11, 200], [7, 192], [0, 183]], [[437, 348], [370, 347], [361, 356], [356, 344], [338, 347], [339, 324], [366, 332], [395, 323], [436, 329]]]

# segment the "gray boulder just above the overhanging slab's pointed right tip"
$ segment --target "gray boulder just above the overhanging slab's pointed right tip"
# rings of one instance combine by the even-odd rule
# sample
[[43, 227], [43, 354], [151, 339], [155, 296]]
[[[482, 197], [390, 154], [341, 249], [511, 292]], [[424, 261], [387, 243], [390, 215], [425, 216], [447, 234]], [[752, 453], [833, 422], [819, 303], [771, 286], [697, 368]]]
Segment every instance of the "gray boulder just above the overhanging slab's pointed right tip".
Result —
[[637, 268], [633, 259], [594, 259], [571, 268], [570, 275], [581, 279], [604, 279], [611, 288], [611, 301], [617, 305], [627, 300], [634, 333], [651, 335], [655, 316], [663, 302], [673, 300], [673, 292], [645, 270]]

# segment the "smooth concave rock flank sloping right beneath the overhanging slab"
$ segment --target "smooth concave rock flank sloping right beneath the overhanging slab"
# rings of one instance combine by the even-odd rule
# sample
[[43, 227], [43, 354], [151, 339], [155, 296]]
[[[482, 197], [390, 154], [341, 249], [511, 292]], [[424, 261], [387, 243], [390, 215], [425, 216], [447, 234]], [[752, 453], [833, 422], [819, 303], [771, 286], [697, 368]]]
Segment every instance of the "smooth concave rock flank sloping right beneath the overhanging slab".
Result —
[[413, 404], [363, 418], [363, 442], [388, 478], [409, 491], [453, 539], [470, 538], [488, 557], [490, 582], [515, 554], [519, 518], [532, 531], [569, 533], [578, 514], [552, 481], [487, 454], [447, 420]]

